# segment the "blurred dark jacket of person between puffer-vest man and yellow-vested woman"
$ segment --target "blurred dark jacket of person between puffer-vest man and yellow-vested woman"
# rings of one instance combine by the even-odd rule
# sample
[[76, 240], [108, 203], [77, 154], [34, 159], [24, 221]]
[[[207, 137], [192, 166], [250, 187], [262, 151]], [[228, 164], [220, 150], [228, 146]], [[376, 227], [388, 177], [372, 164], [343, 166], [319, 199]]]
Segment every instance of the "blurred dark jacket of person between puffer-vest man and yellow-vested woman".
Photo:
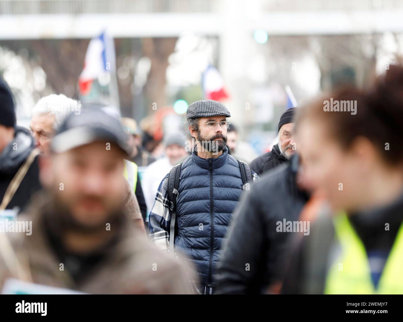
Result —
[[[234, 213], [217, 270], [218, 294], [278, 292], [290, 234], [279, 222], [296, 221], [307, 194], [296, 183], [298, 156], [256, 181]], [[270, 288], [270, 290], [269, 290]]]

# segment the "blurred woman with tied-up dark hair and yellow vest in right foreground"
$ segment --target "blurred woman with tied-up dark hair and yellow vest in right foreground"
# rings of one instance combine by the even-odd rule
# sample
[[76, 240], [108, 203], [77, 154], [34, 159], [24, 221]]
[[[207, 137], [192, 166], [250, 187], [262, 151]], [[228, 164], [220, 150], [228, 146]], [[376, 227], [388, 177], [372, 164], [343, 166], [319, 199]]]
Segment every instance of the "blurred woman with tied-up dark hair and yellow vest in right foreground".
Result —
[[[403, 294], [402, 88], [391, 65], [370, 91], [342, 88], [299, 112], [301, 182], [331, 211], [299, 240], [283, 293]], [[328, 111], [331, 100], [350, 104]]]

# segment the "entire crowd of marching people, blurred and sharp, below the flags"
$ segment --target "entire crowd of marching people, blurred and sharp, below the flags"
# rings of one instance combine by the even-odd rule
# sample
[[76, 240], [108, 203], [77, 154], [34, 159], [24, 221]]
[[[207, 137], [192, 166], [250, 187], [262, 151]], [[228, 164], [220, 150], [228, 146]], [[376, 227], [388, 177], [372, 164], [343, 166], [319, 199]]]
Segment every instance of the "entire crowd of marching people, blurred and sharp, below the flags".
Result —
[[218, 101], [164, 131], [52, 94], [26, 129], [1, 81], [0, 288], [403, 293], [402, 88], [390, 66], [287, 109], [257, 156]]

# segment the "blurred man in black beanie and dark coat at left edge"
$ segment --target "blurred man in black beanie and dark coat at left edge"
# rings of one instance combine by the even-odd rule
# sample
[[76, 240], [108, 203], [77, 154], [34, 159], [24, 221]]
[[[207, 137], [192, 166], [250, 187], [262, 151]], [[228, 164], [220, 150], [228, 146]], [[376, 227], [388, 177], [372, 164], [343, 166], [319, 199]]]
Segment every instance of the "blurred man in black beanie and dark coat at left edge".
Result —
[[40, 188], [39, 152], [29, 131], [16, 125], [14, 98], [1, 78], [0, 114], [0, 215], [13, 217]]

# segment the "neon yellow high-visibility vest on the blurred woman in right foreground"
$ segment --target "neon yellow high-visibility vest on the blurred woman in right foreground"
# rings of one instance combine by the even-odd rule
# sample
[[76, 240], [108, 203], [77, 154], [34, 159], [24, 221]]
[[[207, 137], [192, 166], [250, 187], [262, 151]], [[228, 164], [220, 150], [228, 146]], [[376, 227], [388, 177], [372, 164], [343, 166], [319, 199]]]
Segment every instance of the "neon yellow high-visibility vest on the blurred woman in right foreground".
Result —
[[328, 271], [325, 294], [403, 294], [403, 224], [376, 288], [365, 246], [345, 213], [334, 217], [334, 228], [342, 251]]

